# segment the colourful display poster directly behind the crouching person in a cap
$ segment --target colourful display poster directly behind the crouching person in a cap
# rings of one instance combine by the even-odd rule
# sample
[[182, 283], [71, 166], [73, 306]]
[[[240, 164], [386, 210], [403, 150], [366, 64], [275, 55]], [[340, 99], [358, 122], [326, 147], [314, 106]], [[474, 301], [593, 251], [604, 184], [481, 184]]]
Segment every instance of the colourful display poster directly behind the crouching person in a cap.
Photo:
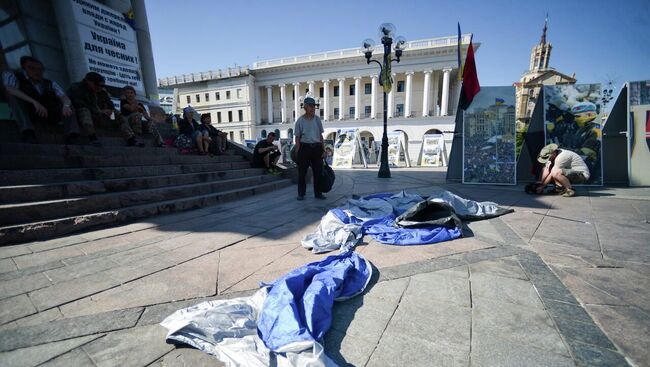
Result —
[[585, 185], [599, 186], [602, 177], [600, 84], [544, 86], [545, 144], [577, 153], [589, 167]]

